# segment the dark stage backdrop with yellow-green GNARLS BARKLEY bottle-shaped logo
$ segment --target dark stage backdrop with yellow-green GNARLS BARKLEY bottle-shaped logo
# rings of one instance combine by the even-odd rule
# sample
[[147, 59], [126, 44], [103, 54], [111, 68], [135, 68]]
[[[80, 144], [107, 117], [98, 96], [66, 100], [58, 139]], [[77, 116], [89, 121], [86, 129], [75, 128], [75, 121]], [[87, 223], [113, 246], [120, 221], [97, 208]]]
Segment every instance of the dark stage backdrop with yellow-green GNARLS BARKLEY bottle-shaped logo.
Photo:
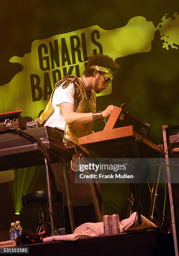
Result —
[[[120, 69], [97, 95], [100, 110], [126, 102], [162, 140], [161, 126], [179, 123], [178, 10], [177, 0], [1, 0], [0, 113], [22, 110], [26, 120], [34, 120], [57, 80], [82, 75], [88, 57], [102, 53]], [[124, 107], [135, 115], [132, 108]], [[96, 122], [94, 130], [103, 127]], [[43, 167], [15, 171], [7, 183], [11, 213], [21, 212], [22, 194], [45, 189], [42, 181]], [[113, 186], [113, 200], [109, 186], [102, 191], [106, 213], [122, 212], [130, 189]]]

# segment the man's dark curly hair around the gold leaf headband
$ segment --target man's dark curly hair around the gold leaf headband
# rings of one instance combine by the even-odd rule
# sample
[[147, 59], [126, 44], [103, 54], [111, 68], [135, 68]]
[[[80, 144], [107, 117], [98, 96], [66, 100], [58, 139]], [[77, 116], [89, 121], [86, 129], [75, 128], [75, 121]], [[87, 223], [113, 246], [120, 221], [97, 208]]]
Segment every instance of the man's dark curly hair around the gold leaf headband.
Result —
[[[88, 59], [87, 66], [85, 67], [85, 70], [83, 72], [83, 74], [86, 77], [90, 77], [93, 75], [94, 69], [91, 67], [92, 65], [111, 69], [112, 72], [115, 72], [117, 69], [119, 69], [119, 65], [115, 63], [113, 59], [110, 58], [108, 55], [103, 55], [103, 54], [92, 55]], [[103, 72], [101, 71], [98, 71], [98, 72], [99, 74], [103, 74]]]

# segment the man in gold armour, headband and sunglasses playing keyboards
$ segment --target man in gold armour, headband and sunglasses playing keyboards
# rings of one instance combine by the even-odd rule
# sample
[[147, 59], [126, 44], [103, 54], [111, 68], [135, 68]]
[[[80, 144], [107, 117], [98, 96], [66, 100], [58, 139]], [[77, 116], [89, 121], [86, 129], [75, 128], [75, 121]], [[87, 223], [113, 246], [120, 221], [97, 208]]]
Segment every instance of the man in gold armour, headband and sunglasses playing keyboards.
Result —
[[[45, 123], [62, 131], [64, 144], [70, 148], [74, 158], [86, 157], [88, 151], [78, 146], [78, 138], [92, 133], [95, 120], [107, 118], [114, 109], [109, 105], [104, 111], [96, 111], [96, 93], [108, 87], [113, 73], [119, 68], [112, 58], [97, 54], [88, 60], [82, 77], [66, 76], [56, 82], [50, 101], [45, 111], [38, 118], [39, 123]], [[57, 189], [63, 193], [65, 205], [64, 182], [60, 164], [53, 164]], [[74, 182], [73, 165], [68, 166], [70, 191], [72, 196], [75, 227], [86, 222], [101, 221], [102, 197], [98, 184], [77, 184]], [[70, 233], [67, 207], [64, 206], [66, 233]]]

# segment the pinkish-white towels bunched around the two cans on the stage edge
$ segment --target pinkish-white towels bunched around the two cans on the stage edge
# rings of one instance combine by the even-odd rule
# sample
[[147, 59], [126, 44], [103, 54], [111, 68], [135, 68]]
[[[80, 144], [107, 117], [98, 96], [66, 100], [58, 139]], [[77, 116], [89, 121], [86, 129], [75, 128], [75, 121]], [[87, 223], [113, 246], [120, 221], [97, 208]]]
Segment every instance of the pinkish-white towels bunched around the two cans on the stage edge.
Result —
[[[131, 228], [133, 223], [134, 227], [137, 227], [138, 225], [138, 218], [136, 217], [136, 212], [133, 212], [132, 215], [120, 222], [120, 232], [127, 230], [128, 228]], [[135, 222], [134, 222], [135, 220]], [[142, 225], [144, 226], [151, 226], [157, 228], [157, 226], [152, 223], [150, 220], [145, 218], [143, 215], [141, 215]], [[91, 236], [102, 236], [104, 235], [104, 227], [103, 222], [98, 223], [84, 223], [77, 227], [73, 234], [65, 235], [65, 236], [50, 236], [43, 239], [43, 242], [53, 242], [53, 241], [75, 241], [78, 238], [85, 238], [85, 237], [91, 237]]]

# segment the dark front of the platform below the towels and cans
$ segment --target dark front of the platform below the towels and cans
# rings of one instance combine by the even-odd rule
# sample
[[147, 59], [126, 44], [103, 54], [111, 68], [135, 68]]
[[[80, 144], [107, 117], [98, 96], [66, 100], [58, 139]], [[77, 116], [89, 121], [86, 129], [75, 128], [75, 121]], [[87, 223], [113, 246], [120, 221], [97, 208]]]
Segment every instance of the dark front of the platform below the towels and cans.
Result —
[[[21, 247], [21, 246], [19, 246]], [[80, 238], [77, 241], [55, 241], [26, 246], [30, 256], [174, 256], [172, 234], [159, 230], [142, 230], [108, 236]]]

